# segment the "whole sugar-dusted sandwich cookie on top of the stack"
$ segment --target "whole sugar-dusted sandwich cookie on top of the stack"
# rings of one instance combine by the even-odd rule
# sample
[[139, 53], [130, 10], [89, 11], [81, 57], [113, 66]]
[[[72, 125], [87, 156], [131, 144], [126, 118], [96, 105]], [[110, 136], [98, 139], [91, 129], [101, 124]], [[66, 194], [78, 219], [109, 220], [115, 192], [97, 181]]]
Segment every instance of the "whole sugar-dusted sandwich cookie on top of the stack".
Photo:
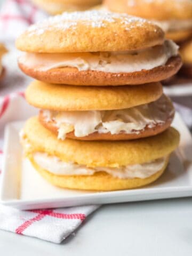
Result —
[[72, 85], [157, 82], [181, 66], [178, 46], [145, 19], [105, 11], [63, 13], [29, 27], [16, 42], [21, 70]]

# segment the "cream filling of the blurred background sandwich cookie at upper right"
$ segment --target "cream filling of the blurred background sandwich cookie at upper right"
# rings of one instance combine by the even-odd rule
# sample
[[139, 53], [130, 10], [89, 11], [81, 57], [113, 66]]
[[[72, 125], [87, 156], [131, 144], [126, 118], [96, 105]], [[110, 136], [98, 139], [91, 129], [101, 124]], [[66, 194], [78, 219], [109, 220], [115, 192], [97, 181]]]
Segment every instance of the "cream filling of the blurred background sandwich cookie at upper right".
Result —
[[165, 32], [174, 32], [186, 29], [192, 29], [192, 19], [190, 20], [162, 20], [154, 22]]

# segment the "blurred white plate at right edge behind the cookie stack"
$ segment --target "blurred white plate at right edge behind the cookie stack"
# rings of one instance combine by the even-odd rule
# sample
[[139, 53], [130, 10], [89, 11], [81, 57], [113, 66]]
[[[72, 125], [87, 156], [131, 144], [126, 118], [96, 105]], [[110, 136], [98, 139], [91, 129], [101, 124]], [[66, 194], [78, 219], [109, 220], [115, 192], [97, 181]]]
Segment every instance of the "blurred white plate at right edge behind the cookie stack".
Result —
[[163, 87], [163, 91], [170, 97], [190, 96], [192, 95], [192, 82], [167, 85]]

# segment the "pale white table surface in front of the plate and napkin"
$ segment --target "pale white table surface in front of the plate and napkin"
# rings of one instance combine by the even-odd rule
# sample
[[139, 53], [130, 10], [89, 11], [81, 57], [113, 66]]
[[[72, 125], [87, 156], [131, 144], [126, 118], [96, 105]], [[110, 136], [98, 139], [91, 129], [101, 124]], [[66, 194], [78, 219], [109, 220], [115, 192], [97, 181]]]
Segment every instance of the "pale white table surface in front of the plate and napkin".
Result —
[[188, 256], [192, 198], [102, 206], [60, 245], [1, 230], [0, 252], [2, 256]]

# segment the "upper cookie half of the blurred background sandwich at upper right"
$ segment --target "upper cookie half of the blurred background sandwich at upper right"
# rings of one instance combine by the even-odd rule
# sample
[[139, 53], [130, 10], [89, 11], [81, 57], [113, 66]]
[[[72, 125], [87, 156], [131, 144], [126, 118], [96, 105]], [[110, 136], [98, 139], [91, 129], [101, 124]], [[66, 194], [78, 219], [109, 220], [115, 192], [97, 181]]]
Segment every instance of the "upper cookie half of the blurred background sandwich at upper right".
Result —
[[155, 20], [192, 19], [191, 0], [105, 0], [111, 11]]

